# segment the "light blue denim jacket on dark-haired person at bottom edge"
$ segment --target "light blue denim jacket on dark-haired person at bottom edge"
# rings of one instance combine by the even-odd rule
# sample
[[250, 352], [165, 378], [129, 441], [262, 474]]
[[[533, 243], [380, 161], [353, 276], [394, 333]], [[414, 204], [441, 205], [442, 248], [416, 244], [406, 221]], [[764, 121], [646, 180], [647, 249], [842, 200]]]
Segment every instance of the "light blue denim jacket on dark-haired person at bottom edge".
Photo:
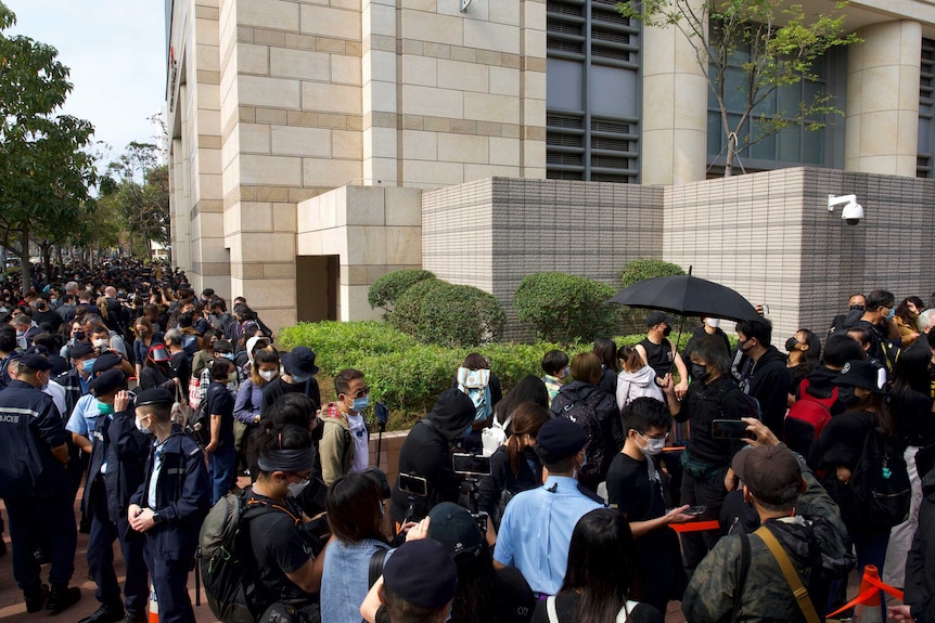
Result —
[[360, 623], [360, 603], [370, 590], [370, 559], [380, 548], [389, 546], [373, 538], [331, 542], [321, 574], [321, 623]]

